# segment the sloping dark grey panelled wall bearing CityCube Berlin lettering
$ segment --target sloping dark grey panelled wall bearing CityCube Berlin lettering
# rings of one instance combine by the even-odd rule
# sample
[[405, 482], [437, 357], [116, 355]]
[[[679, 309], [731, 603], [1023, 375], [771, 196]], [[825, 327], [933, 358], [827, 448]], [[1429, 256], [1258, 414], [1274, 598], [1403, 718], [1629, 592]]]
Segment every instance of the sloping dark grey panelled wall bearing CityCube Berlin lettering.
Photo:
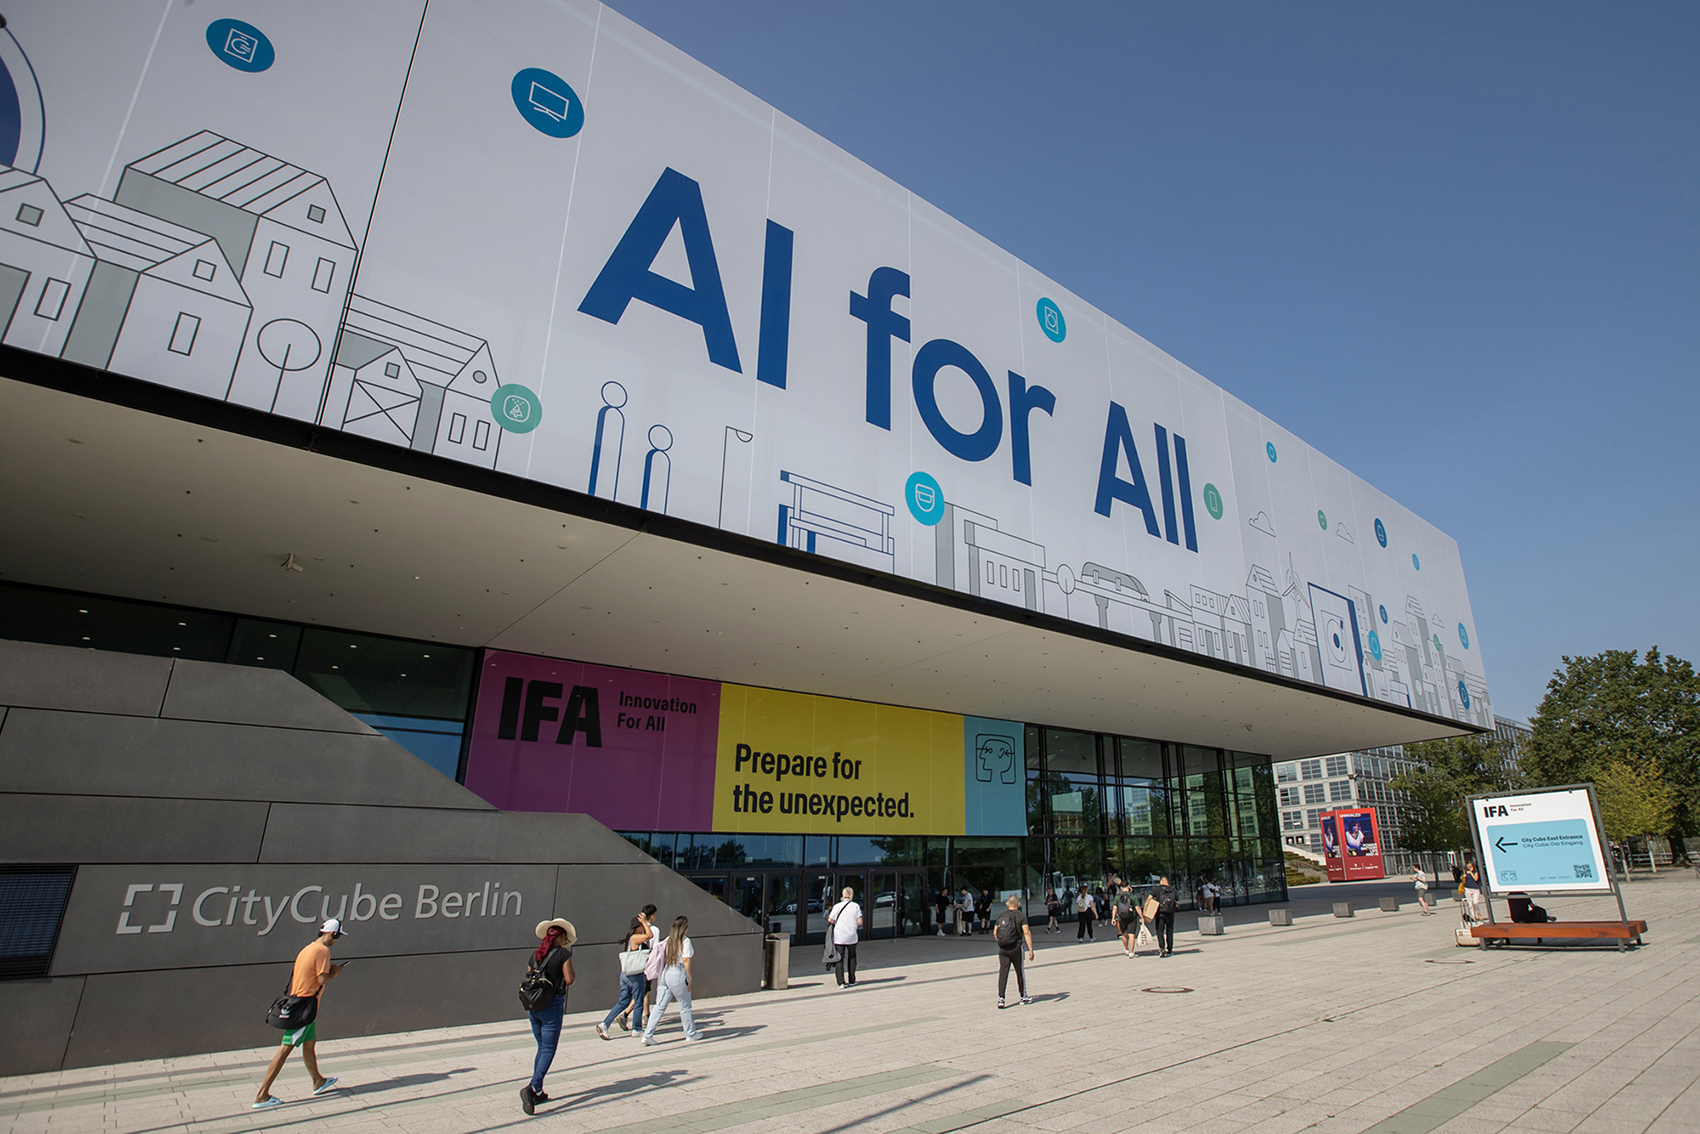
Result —
[[520, 1018], [552, 916], [568, 1010], [605, 1012], [644, 903], [690, 918], [699, 996], [762, 979], [751, 921], [600, 823], [496, 811], [272, 670], [0, 641], [0, 862], [78, 865], [53, 978], [0, 983], [0, 1074], [274, 1042], [345, 903], [321, 1039]]

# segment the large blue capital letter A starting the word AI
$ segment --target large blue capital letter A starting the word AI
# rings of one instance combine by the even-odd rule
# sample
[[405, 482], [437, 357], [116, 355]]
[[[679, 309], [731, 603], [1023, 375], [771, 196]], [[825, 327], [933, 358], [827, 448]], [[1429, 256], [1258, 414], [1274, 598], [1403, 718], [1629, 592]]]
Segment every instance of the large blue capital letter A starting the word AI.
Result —
[[[685, 238], [692, 287], [649, 270], [675, 224]], [[678, 170], [661, 173], [578, 309], [605, 323], [619, 323], [632, 299], [700, 326], [709, 362], [743, 374], [733, 320], [726, 311], [726, 289], [721, 287], [721, 265], [709, 236], [709, 216], [702, 209], [702, 187]]]

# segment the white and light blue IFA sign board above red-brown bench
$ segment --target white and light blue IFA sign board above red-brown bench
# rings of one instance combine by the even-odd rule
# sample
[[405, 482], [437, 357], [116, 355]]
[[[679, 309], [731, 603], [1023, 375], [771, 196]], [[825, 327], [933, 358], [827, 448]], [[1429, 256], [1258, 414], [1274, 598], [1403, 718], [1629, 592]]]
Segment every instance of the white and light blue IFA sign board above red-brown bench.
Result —
[[1476, 845], [1496, 894], [1612, 889], [1590, 787], [1470, 799]]

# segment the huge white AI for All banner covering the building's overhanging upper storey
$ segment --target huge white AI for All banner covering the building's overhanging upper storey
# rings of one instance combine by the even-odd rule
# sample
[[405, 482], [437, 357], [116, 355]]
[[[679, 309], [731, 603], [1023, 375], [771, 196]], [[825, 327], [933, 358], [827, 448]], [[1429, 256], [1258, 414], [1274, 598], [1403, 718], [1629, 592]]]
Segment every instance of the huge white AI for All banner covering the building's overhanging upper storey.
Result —
[[1445, 532], [610, 9], [5, 17], [7, 345], [1493, 728]]

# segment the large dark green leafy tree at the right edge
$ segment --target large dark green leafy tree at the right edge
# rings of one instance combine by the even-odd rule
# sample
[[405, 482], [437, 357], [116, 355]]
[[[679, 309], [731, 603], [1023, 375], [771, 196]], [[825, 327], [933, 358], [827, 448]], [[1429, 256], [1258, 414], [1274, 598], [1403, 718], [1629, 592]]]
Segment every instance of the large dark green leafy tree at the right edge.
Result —
[[1658, 833], [1676, 845], [1700, 833], [1700, 677], [1688, 661], [1658, 648], [1566, 656], [1547, 682], [1530, 731], [1523, 758], [1530, 785], [1598, 784], [1613, 763], [1656, 763], [1673, 792]]

